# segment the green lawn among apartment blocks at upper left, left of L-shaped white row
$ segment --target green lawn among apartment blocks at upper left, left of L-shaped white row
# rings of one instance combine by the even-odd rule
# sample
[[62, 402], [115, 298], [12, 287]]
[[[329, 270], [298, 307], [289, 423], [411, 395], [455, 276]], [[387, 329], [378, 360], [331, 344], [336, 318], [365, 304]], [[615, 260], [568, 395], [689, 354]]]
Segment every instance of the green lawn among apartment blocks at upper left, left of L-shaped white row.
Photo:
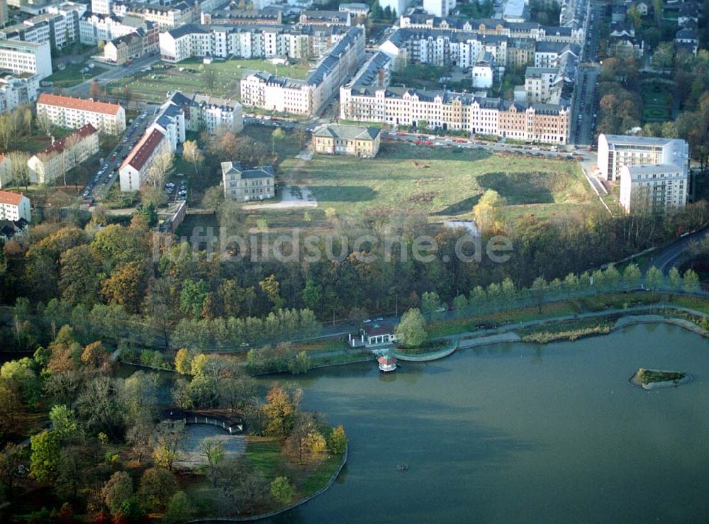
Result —
[[[184, 60], [177, 65], [160, 64], [148, 72], [138, 72], [130, 77], [110, 82], [109, 93], [118, 93], [128, 86], [133, 95], [141, 100], [162, 101], [168, 90], [179, 90], [185, 94], [199, 92], [213, 96], [239, 98], [239, 81], [243, 74], [266, 71], [292, 78], [304, 78], [309, 65], [275, 66], [266, 60], [225, 60], [203, 64], [201, 60]], [[180, 69], [183, 69], [180, 71]], [[211, 73], [213, 72], [213, 77]], [[210, 85], [211, 84], [211, 85]]]

